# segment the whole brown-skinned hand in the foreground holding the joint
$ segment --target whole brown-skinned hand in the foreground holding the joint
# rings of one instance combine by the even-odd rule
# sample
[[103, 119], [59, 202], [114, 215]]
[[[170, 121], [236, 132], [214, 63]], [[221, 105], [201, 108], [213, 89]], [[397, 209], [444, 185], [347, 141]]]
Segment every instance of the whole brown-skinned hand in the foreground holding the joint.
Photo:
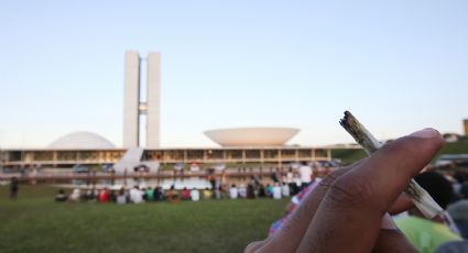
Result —
[[443, 143], [437, 131], [426, 130], [333, 172], [276, 234], [246, 252], [417, 252], [389, 213], [413, 208], [402, 193]]

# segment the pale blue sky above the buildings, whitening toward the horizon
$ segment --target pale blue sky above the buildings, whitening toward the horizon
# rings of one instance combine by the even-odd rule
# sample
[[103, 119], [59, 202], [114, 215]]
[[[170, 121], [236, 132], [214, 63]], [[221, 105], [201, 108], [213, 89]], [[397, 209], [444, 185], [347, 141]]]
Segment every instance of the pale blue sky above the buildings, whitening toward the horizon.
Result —
[[1, 1], [0, 148], [75, 131], [122, 145], [126, 51], [162, 55], [162, 146], [293, 127], [289, 144], [352, 143], [468, 118], [468, 1]]

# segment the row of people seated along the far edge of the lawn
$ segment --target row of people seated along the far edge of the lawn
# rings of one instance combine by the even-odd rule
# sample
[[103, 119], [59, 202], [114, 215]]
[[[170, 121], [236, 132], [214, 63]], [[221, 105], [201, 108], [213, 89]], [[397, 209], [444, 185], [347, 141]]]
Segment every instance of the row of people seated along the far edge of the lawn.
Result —
[[[297, 194], [302, 188], [306, 187], [314, 180], [314, 169], [306, 163], [301, 166], [291, 167], [287, 173], [281, 174], [275, 169], [270, 179], [272, 184], [262, 184], [258, 176], [252, 176], [247, 184], [221, 184], [209, 177], [210, 188], [197, 189], [186, 188], [163, 189], [161, 186], [132, 188], [120, 188], [119, 190], [102, 189], [74, 189], [70, 195], [66, 195], [64, 189], [59, 189], [55, 197], [58, 202], [64, 201], [98, 201], [98, 202], [117, 202], [117, 204], [142, 204], [151, 201], [181, 201], [200, 199], [254, 199], [254, 198], [273, 198], [281, 199]], [[213, 179], [213, 180], [211, 180]]]

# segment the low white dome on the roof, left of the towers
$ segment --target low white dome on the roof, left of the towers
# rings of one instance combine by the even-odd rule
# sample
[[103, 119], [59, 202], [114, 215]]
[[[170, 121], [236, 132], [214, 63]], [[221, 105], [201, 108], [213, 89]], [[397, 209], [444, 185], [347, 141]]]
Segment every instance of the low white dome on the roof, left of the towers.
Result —
[[116, 146], [107, 139], [91, 132], [74, 132], [58, 138], [48, 145], [54, 150], [108, 150]]

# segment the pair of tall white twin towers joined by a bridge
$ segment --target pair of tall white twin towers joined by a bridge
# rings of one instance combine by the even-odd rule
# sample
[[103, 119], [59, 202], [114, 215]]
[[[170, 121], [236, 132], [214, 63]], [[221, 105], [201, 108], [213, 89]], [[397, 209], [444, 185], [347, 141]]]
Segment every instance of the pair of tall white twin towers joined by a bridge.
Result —
[[[142, 68], [146, 64], [145, 73]], [[146, 148], [160, 147], [161, 54], [149, 53], [146, 58], [138, 52], [126, 52], [123, 97], [123, 147], [139, 147], [140, 116], [146, 119]], [[146, 75], [144, 78], [144, 75]], [[146, 98], [142, 98], [142, 80], [146, 80]]]

